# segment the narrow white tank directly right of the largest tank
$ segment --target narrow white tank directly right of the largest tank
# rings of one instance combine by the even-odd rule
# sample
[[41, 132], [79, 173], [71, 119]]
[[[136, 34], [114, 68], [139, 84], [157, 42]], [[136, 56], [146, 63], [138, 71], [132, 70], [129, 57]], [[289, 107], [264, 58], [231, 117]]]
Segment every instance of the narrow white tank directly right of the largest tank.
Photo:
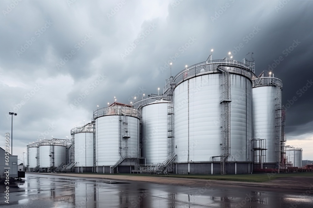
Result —
[[279, 145], [281, 139], [278, 137], [282, 133], [276, 133], [276, 130], [281, 130], [281, 126], [277, 126], [279, 125], [277, 122], [281, 121], [281, 103], [277, 105], [278, 99], [281, 96], [277, 92], [281, 93], [281, 89], [278, 91], [277, 88], [281, 86], [281, 80], [275, 77], [260, 77], [255, 80], [255, 86], [252, 89], [253, 137], [254, 139], [266, 140], [266, 147], [263, 147], [266, 149], [264, 152], [264, 163], [275, 164], [280, 161]]

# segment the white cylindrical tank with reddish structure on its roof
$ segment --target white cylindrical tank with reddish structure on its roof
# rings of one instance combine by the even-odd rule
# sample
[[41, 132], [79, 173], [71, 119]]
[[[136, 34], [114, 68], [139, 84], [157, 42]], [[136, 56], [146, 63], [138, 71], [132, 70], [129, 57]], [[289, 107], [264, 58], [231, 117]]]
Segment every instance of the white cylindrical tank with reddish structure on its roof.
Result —
[[139, 111], [125, 104], [114, 103], [94, 112], [96, 166], [139, 157], [139, 118]]

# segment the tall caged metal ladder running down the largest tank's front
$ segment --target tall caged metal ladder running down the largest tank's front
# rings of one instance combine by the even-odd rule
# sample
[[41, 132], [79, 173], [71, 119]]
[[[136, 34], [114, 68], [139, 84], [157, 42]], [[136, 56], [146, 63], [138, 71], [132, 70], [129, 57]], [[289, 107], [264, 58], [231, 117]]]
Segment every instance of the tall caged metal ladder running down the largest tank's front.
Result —
[[225, 164], [230, 156], [230, 74], [228, 69], [218, 66], [217, 70], [222, 72], [222, 95], [221, 104], [221, 174], [226, 174]]

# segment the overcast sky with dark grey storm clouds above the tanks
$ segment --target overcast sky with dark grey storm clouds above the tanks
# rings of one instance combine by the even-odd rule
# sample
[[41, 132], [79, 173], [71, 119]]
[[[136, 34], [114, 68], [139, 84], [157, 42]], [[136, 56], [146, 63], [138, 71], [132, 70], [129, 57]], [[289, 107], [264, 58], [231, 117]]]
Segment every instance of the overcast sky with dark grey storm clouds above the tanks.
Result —
[[8, 112], [17, 113], [13, 154], [21, 160], [28, 143], [70, 138], [114, 96], [129, 104], [163, 92], [176, 53], [172, 75], [212, 48], [213, 59], [254, 52], [256, 75], [272, 66], [289, 104], [287, 144], [313, 159], [313, 1], [6, 0], [0, 9], [0, 139], [11, 133]]

